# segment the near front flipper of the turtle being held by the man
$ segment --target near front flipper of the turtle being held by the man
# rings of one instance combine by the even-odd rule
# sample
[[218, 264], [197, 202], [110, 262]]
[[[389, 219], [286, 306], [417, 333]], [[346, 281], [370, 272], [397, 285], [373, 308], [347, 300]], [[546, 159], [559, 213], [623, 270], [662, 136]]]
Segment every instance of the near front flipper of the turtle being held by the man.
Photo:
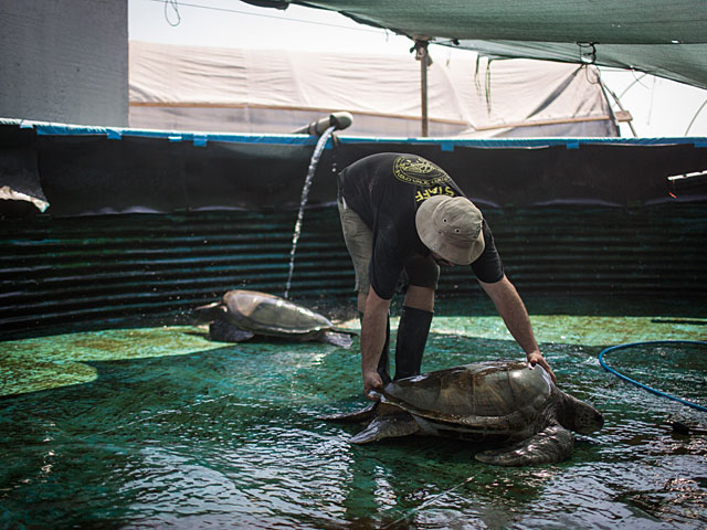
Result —
[[569, 458], [573, 446], [572, 433], [553, 423], [515, 445], [478, 453], [476, 459], [496, 466], [552, 464]]

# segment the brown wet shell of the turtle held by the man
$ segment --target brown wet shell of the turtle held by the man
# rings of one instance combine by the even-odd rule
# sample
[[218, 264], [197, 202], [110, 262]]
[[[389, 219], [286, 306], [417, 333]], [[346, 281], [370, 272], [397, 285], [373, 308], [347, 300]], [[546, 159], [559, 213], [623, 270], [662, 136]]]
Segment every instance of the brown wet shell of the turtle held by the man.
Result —
[[383, 395], [386, 402], [437, 427], [525, 436], [546, 423], [556, 393], [540, 367], [492, 361], [393, 381]]

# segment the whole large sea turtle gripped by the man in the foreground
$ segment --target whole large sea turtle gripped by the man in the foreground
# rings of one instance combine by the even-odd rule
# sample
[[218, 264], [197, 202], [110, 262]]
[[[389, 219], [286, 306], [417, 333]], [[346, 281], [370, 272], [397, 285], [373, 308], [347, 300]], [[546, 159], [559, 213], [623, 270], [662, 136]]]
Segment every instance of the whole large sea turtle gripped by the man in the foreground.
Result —
[[500, 466], [569, 458], [570, 431], [589, 434], [604, 424], [601, 413], [558, 389], [542, 368], [521, 361], [476, 362], [392, 381], [377, 398], [362, 411], [321, 417], [369, 422], [351, 438], [356, 444], [453, 436], [486, 448], [476, 459]]

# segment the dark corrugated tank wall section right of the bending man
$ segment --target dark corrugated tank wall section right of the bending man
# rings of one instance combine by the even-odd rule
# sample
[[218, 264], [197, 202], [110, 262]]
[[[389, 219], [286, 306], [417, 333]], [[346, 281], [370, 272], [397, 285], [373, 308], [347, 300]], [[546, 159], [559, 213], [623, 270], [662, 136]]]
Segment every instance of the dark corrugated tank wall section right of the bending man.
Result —
[[[484, 213], [506, 274], [521, 293], [707, 294], [705, 203]], [[447, 271], [443, 290], [461, 285], [465, 277], [461, 267]]]

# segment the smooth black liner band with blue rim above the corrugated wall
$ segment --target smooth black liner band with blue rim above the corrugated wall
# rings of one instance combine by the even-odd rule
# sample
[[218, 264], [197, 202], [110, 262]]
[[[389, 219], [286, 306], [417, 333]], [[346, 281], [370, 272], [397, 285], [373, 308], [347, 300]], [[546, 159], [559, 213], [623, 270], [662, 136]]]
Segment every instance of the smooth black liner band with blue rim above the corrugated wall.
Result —
[[[197, 135], [8, 124], [0, 119], [0, 188], [49, 203], [53, 218], [193, 210], [288, 211], [299, 205], [316, 137]], [[707, 138], [329, 139], [308, 204], [336, 200], [335, 173], [383, 151], [444, 168], [494, 208], [634, 206], [707, 201]], [[669, 177], [690, 174], [688, 179]], [[0, 215], [19, 202], [0, 200]], [[29, 204], [29, 203], [25, 203]]]

